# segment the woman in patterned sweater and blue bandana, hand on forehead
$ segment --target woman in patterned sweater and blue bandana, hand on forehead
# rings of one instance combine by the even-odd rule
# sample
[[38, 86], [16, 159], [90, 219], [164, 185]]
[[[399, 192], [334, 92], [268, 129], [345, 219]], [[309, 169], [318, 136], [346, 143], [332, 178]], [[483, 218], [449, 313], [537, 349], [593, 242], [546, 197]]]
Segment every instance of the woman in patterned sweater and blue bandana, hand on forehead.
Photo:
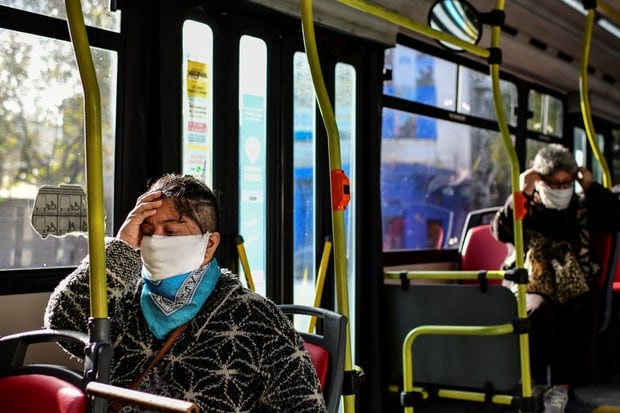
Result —
[[[202, 412], [324, 413], [316, 372], [288, 318], [218, 266], [219, 221], [206, 185], [164, 175], [106, 240], [111, 383], [192, 401]], [[88, 282], [85, 260], [52, 294], [47, 328], [86, 332]], [[164, 342], [172, 346], [149, 368]]]

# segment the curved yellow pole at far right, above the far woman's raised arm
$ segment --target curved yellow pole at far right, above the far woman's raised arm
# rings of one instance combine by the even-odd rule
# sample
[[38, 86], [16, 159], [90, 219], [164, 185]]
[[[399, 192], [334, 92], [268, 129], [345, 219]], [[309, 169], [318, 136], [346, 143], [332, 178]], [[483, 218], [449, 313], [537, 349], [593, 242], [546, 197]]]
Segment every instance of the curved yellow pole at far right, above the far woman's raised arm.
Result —
[[583, 49], [581, 54], [581, 67], [579, 72], [579, 96], [581, 104], [581, 116], [583, 117], [583, 124], [586, 128], [586, 135], [588, 136], [588, 142], [594, 153], [594, 157], [601, 165], [603, 172], [603, 186], [605, 188], [611, 188], [611, 173], [609, 172], [609, 166], [607, 160], [601, 153], [598, 142], [596, 140], [596, 131], [594, 130], [594, 123], [592, 122], [592, 112], [590, 110], [590, 97], [588, 96], [588, 62], [590, 60], [590, 43], [592, 40], [592, 27], [594, 26], [595, 10], [588, 9], [586, 15], [586, 24], [583, 33]]

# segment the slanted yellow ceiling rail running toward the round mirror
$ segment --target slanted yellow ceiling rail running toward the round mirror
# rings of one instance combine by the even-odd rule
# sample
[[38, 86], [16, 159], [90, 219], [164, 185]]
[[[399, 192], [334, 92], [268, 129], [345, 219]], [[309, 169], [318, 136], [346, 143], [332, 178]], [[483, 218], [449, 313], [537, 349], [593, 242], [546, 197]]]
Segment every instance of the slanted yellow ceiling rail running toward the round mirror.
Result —
[[460, 47], [461, 49], [474, 54], [476, 56], [487, 58], [489, 57], [489, 50], [484, 47], [477, 46], [475, 44], [467, 43], [458, 37], [450, 34], [435, 30], [426, 24], [416, 22], [408, 17], [405, 17], [395, 11], [387, 9], [383, 6], [370, 2], [368, 0], [338, 0], [339, 2], [353, 7], [357, 10], [379, 17], [390, 23], [394, 23], [398, 26], [404, 27], [416, 33], [423, 34], [431, 39], [440, 40], [442, 42], [450, 43], [453, 46]]

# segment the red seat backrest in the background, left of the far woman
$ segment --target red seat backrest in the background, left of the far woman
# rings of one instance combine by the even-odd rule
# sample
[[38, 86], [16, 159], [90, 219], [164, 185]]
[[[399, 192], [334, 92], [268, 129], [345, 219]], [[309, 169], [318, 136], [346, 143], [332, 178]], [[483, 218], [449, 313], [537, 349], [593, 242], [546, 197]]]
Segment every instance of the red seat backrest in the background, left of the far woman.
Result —
[[491, 234], [489, 224], [471, 227], [465, 234], [460, 251], [463, 271], [499, 270], [508, 255], [508, 245]]

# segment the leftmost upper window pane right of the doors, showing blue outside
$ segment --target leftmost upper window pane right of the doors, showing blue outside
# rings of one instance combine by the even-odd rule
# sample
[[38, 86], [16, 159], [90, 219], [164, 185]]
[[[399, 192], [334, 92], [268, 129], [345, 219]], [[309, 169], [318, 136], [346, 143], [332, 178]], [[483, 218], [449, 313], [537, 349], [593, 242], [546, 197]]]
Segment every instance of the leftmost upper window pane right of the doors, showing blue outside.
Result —
[[385, 52], [385, 68], [391, 78], [383, 82], [384, 94], [455, 110], [456, 64], [396, 45]]

